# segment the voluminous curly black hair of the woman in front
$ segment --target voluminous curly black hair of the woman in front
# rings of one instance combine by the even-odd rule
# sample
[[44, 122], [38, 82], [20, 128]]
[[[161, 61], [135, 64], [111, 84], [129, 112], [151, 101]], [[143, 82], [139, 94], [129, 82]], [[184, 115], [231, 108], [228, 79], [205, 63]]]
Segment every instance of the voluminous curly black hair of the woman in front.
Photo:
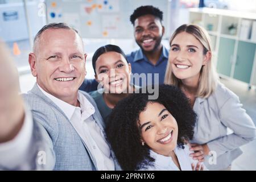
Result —
[[123, 170], [137, 170], [154, 165], [150, 156], [150, 148], [141, 143], [141, 130], [137, 122], [139, 114], [146, 109], [148, 102], [157, 102], [164, 105], [173, 115], [178, 125], [177, 146], [184, 148], [187, 140], [193, 138], [193, 128], [196, 114], [189, 104], [188, 98], [179, 88], [171, 85], [159, 86], [159, 97], [148, 100], [152, 95], [148, 89], [146, 93], [130, 94], [119, 101], [113, 109], [106, 126], [106, 135], [115, 157]]

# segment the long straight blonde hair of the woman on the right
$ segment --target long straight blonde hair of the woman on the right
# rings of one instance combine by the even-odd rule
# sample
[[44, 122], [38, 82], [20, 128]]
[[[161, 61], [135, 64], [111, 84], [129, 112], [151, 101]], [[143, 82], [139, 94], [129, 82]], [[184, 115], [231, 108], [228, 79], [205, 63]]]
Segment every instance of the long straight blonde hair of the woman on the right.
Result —
[[[174, 34], [172, 34], [172, 37], [170, 39], [170, 45], [172, 43], [172, 40], [174, 40], [174, 38], [176, 37], [176, 35], [180, 34], [181, 32], [187, 32], [188, 34], [195, 36], [195, 38], [199, 40], [199, 42], [204, 47], [204, 55], [208, 51], [212, 52], [208, 32], [204, 28], [197, 26], [196, 24], [183, 24], [179, 28], [177, 28]], [[205, 64], [201, 68], [199, 77], [199, 88], [197, 89], [196, 97], [208, 98], [216, 89], [217, 83], [218, 76], [214, 68], [211, 55], [210, 60], [207, 61], [207, 64]], [[172, 72], [170, 60], [168, 60], [164, 84], [175, 85], [178, 87], [181, 87], [182, 85], [181, 80], [177, 78]]]

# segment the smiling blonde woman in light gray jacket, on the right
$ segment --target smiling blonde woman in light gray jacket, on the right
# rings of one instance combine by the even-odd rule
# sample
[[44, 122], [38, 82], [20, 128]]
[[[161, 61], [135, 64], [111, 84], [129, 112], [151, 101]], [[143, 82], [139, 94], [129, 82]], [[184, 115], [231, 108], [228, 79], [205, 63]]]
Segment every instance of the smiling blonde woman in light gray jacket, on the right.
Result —
[[[218, 80], [204, 28], [183, 24], [170, 46], [164, 83], [183, 90], [197, 114], [191, 156], [204, 160], [210, 170], [231, 169], [232, 161], [242, 154], [239, 147], [255, 139], [255, 125], [238, 96]], [[230, 135], [228, 128], [233, 130]]]

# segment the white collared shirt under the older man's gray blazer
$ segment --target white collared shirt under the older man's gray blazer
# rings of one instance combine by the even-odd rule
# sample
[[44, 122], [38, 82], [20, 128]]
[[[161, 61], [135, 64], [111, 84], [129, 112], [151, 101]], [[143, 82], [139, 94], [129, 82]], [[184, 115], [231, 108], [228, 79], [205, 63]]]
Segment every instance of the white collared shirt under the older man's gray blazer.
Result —
[[93, 118], [95, 108], [87, 98], [82, 93], [78, 92], [77, 99], [80, 102], [80, 107], [76, 107], [45, 92], [39, 85], [38, 87], [52, 102], [60, 107], [63, 113], [68, 117], [83, 142], [89, 148], [90, 154], [93, 156], [94, 161], [96, 161], [97, 169], [99, 171], [114, 170], [114, 161], [108, 143], [105, 140], [100, 126], [98, 126]]

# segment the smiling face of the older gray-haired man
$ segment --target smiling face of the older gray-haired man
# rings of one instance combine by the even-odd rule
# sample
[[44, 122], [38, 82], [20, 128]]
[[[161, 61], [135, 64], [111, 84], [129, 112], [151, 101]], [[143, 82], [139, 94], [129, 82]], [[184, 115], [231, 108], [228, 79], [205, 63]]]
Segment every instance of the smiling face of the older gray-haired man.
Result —
[[73, 30], [49, 28], [36, 44], [30, 66], [39, 86], [60, 100], [77, 99], [86, 59], [79, 35]]

